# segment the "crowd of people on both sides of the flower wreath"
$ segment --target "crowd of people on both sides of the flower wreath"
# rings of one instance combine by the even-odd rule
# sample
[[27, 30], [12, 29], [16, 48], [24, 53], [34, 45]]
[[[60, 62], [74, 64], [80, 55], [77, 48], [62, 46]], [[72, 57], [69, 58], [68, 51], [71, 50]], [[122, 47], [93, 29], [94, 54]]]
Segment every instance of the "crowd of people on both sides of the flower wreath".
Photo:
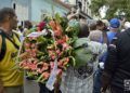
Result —
[[[87, 42], [95, 56], [90, 66], [69, 67], [63, 72], [58, 93], [129, 93], [130, 23], [115, 17], [87, 24], [74, 10], [66, 17], [79, 21], [79, 41]], [[15, 66], [13, 57], [24, 37], [34, 29], [42, 31], [44, 26], [44, 22], [32, 26], [25, 21], [24, 26], [18, 27], [17, 23], [13, 9], [0, 10], [0, 93], [24, 93], [24, 71], [11, 69]], [[86, 67], [93, 70], [88, 71]], [[54, 93], [44, 83], [39, 87], [39, 93]]]

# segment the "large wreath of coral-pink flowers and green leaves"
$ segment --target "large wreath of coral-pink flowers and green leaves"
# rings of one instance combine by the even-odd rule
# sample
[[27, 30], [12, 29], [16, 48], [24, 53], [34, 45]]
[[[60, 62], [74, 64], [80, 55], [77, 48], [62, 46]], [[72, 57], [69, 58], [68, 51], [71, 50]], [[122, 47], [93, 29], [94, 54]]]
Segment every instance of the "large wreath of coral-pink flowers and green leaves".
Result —
[[[55, 14], [54, 18], [47, 17], [44, 29], [29, 34], [18, 56], [20, 68], [25, 69], [28, 77], [38, 82], [47, 82], [56, 63], [56, 76], [62, 75], [67, 67], [75, 66], [73, 43], [77, 39], [79, 23], [68, 22]], [[21, 50], [22, 51], [22, 50]], [[21, 56], [23, 55], [24, 56]], [[55, 62], [56, 61], [56, 62]]]

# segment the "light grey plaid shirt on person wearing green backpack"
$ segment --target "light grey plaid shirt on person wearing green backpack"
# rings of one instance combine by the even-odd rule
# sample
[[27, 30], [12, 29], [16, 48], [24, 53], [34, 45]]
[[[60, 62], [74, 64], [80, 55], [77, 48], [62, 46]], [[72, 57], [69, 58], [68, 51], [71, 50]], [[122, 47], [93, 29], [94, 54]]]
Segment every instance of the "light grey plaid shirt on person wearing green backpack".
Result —
[[[106, 51], [106, 45], [103, 45], [98, 42], [90, 41], [88, 44], [91, 45], [91, 50], [93, 53], [102, 54]], [[98, 58], [93, 64], [93, 69], [95, 70], [98, 67]], [[62, 93], [92, 93], [93, 90], [93, 72], [87, 78], [78, 78], [75, 72], [75, 68], [69, 67], [62, 77], [61, 82], [61, 91]]]

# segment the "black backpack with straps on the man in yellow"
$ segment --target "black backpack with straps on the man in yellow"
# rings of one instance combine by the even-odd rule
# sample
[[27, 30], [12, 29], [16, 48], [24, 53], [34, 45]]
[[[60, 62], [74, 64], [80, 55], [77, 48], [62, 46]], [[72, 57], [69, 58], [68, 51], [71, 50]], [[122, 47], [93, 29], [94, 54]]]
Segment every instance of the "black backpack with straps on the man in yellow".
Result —
[[[16, 34], [16, 32], [14, 32], [13, 31], [13, 34], [17, 37], [17, 39], [20, 40], [20, 37], [18, 37], [18, 35]], [[12, 41], [12, 39], [9, 37], [9, 36], [6, 36], [5, 34], [4, 34], [4, 31], [2, 31], [2, 29], [0, 29], [0, 36], [1, 36], [1, 39], [2, 39], [2, 43], [1, 43], [1, 52], [0, 52], [0, 62], [3, 59], [3, 57], [4, 57], [4, 55], [5, 55], [5, 51], [6, 51], [6, 43], [5, 43], [5, 39], [9, 39], [13, 44], [14, 44], [14, 46], [16, 48], [16, 49], [20, 49], [20, 46], [14, 42], [14, 41]]]

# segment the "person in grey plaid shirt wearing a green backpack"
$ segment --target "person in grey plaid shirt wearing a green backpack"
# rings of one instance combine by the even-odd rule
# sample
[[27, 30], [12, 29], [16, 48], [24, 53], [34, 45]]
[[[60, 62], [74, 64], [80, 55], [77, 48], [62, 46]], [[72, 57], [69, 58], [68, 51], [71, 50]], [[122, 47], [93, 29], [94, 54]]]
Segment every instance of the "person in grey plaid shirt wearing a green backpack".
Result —
[[105, 44], [88, 39], [89, 28], [84, 22], [79, 22], [79, 24], [78, 39], [73, 44], [76, 65], [69, 66], [63, 72], [62, 93], [92, 93], [93, 74], [98, 67], [98, 57], [106, 50]]

